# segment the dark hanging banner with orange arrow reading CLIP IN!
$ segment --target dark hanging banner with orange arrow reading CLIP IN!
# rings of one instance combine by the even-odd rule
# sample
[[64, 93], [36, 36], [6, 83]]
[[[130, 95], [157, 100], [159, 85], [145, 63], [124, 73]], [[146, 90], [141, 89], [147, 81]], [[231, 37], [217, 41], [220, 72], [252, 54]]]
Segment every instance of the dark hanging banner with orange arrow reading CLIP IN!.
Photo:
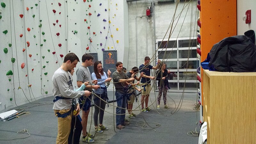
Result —
[[[103, 68], [108, 75], [108, 69], [111, 71], [111, 76], [116, 69], [117, 51], [103, 51]], [[114, 69], [110, 69], [114, 68]]]

